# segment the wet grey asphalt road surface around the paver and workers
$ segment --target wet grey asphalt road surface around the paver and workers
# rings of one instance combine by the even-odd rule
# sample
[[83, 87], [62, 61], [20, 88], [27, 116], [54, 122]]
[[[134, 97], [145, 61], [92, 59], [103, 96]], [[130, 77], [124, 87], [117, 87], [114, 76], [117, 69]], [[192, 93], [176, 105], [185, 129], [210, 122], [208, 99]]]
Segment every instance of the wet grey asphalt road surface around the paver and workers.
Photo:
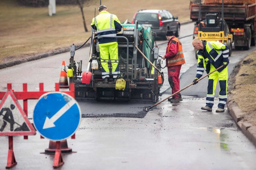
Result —
[[[186, 61], [181, 70], [181, 88], [190, 84], [196, 73], [192, 36], [185, 37], [190, 34], [187, 30], [193, 30], [192, 23], [181, 27]], [[166, 44], [159, 47], [160, 54], [164, 54]], [[233, 51], [230, 73], [234, 64], [253, 49]], [[86, 54], [88, 48], [77, 51], [75, 60], [88, 58]], [[69, 53], [2, 69], [0, 89], [5, 91], [6, 84], [13, 83], [13, 89], [21, 91], [22, 83], [28, 83], [29, 91], [38, 91], [38, 83], [44, 82], [44, 90], [54, 90], [62, 60], [67, 64]], [[83, 62], [83, 70], [86, 65]], [[165, 82], [161, 99], [164, 99], [171, 93], [167, 69], [162, 71]], [[218, 100], [213, 112], [200, 110], [205, 105], [202, 97], [206, 95], [206, 84], [207, 78], [184, 90], [182, 102], [164, 101], [148, 113], [143, 107], [153, 103], [79, 102], [80, 127], [76, 139], [68, 139], [69, 147], [77, 153], [64, 154], [65, 164], [59, 169], [256, 169], [255, 147], [237, 129], [226, 109], [215, 112]], [[31, 122], [36, 102], [28, 103]], [[0, 143], [0, 169], [4, 169], [8, 137], [0, 137]], [[54, 156], [39, 154], [48, 144], [49, 140], [40, 139], [39, 133], [29, 136], [29, 140], [14, 137], [18, 164], [13, 169], [53, 169]]]

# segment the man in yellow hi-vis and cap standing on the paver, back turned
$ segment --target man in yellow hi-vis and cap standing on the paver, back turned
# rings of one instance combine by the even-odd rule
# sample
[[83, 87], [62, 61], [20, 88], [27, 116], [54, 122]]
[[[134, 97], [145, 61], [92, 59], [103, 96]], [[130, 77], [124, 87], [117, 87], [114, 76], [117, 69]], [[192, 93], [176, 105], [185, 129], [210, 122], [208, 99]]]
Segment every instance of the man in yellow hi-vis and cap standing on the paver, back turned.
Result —
[[[99, 50], [102, 65], [102, 78], [104, 82], [108, 82], [109, 68], [108, 59], [110, 56], [112, 64], [112, 75], [114, 82], [117, 80], [117, 76], [120, 74], [118, 63], [118, 44], [117, 33], [121, 31], [121, 23], [117, 16], [110, 14], [108, 8], [105, 5], [99, 6], [99, 15], [92, 19], [92, 28], [97, 31], [97, 36], [111, 36], [111, 37], [98, 37]], [[112, 38], [113, 37], [113, 38]]]

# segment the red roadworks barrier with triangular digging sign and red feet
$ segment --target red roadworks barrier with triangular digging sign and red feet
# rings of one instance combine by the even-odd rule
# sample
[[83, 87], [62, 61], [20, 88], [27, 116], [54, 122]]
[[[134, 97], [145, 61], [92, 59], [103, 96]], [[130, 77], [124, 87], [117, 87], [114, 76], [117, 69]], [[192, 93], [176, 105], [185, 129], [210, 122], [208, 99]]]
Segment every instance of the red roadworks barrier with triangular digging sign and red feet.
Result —
[[[75, 96], [74, 83], [69, 85], [70, 91], [65, 91], [67, 95]], [[59, 83], [55, 83], [55, 91], [59, 91]], [[13, 152], [13, 136], [24, 136], [24, 139], [28, 139], [27, 135], [35, 135], [36, 130], [29, 122], [28, 116], [28, 99], [39, 99], [48, 91], [44, 91], [44, 84], [39, 83], [38, 92], [28, 92], [27, 84], [23, 83], [22, 92], [14, 92], [12, 90], [11, 83], [7, 84], [7, 92], [0, 92], [0, 136], [8, 136], [9, 150], [7, 157], [6, 169], [9, 169], [17, 164], [17, 161]], [[18, 100], [23, 100], [23, 109], [20, 106]], [[75, 138], [75, 134], [71, 136]], [[67, 141], [65, 140], [67, 149]], [[62, 152], [60, 141], [56, 141], [56, 152], [54, 157], [53, 167], [57, 168], [63, 165]], [[69, 148], [68, 148], [69, 149]], [[72, 152], [72, 149], [71, 149]]]

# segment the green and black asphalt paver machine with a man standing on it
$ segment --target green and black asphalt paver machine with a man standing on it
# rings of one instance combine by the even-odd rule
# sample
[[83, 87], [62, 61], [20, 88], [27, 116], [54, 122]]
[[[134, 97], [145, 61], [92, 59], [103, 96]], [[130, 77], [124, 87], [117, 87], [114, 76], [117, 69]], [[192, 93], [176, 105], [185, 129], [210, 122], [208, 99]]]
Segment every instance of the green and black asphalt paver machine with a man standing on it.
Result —
[[[78, 62], [78, 67], [74, 62], [74, 45], [71, 45], [71, 58], [69, 68], [72, 68], [73, 75], [69, 76], [69, 82], [75, 84], [75, 99], [78, 101], [87, 100], [114, 100], [114, 101], [136, 101], [136, 102], [156, 102], [159, 99], [160, 87], [163, 84], [163, 74], [161, 70], [160, 60], [158, 60], [158, 47], [155, 42], [156, 33], [150, 27], [143, 27], [136, 21], [135, 24], [121, 24], [122, 30], [117, 34], [118, 40], [118, 62], [120, 67], [120, 75], [123, 78], [125, 88], [123, 90], [116, 89], [116, 83], [111, 79], [112, 65], [108, 60], [110, 71], [109, 82], [103, 82], [100, 52], [98, 48], [97, 34], [92, 30], [90, 59], [88, 71], [92, 73], [89, 83], [82, 83], [82, 61]], [[95, 36], [94, 36], [95, 35]], [[146, 61], [139, 50], [159, 69], [153, 68]], [[97, 61], [98, 67], [92, 69], [92, 62]], [[114, 61], [116, 62], [116, 61]], [[77, 70], [77, 71], [76, 71]]]

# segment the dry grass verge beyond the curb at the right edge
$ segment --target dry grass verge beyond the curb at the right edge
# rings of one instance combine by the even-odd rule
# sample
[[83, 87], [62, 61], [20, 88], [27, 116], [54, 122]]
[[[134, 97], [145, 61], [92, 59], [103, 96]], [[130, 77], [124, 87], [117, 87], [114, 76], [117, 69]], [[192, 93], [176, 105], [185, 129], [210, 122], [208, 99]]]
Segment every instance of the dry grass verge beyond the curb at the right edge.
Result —
[[[245, 63], [252, 61], [250, 63]], [[242, 112], [244, 121], [256, 126], [256, 51], [253, 51], [244, 60], [239, 72], [235, 76], [234, 89], [231, 91], [234, 101]]]

